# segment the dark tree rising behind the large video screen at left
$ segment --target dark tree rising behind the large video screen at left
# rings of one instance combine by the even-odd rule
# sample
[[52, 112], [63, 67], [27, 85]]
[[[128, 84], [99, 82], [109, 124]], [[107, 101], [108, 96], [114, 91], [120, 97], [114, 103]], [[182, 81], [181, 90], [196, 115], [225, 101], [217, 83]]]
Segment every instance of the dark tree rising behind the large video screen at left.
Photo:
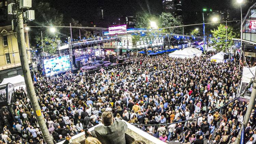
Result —
[[[29, 23], [29, 26], [63, 26], [63, 14], [52, 8], [48, 2], [35, 0], [32, 4], [32, 9], [35, 10], [35, 19]], [[61, 28], [57, 28], [57, 32], [51, 33], [49, 28], [31, 27], [30, 43], [36, 48], [42, 47], [41, 31], [43, 32], [44, 51], [49, 55], [56, 54]], [[41, 54], [42, 51], [39, 49]]]

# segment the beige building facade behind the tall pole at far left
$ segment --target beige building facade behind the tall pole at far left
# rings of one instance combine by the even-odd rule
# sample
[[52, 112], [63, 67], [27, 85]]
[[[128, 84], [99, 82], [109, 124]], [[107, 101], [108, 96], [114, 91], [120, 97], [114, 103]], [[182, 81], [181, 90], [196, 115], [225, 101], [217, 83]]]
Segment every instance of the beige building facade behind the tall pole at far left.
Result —
[[[24, 32], [27, 58], [29, 63], [31, 63], [28, 31], [24, 30]], [[0, 59], [0, 81], [6, 77], [19, 74], [23, 75], [19, 57], [17, 33], [12, 31], [12, 26], [0, 27]]]

